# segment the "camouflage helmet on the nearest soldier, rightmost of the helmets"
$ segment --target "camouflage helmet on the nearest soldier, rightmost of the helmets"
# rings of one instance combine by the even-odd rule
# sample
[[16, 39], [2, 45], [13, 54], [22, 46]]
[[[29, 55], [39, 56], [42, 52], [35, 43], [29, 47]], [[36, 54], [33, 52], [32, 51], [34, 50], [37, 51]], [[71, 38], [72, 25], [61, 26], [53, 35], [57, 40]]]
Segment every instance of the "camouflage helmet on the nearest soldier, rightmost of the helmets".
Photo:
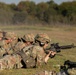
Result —
[[49, 38], [49, 36], [46, 33], [39, 33], [36, 35], [35, 37], [35, 41], [39, 41], [42, 43], [49, 43], [51, 41], [51, 39]]

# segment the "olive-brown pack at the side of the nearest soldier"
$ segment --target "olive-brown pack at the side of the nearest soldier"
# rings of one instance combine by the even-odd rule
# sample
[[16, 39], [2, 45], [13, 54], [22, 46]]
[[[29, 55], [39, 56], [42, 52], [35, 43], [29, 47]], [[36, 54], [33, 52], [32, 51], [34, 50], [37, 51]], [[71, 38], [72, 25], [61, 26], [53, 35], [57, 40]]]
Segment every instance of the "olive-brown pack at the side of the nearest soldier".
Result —
[[35, 59], [31, 55], [33, 45], [23, 48], [18, 54], [22, 57], [22, 61], [26, 65], [26, 68], [33, 68], [36, 66]]

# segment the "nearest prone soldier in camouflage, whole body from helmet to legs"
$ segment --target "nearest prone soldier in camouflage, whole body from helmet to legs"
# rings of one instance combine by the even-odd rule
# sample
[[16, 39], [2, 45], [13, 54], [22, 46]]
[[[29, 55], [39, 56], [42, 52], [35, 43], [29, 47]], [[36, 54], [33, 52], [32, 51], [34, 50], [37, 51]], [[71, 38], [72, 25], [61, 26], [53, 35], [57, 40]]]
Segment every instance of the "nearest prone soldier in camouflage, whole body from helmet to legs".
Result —
[[[24, 63], [24, 67], [33, 68], [40, 66], [42, 63], [47, 63], [49, 55], [55, 55], [52, 51], [49, 54], [44, 52], [44, 48], [48, 46], [50, 39], [47, 34], [37, 34], [35, 37], [35, 45], [31, 45], [21, 49], [20, 51], [6, 55], [0, 59], [0, 69], [12, 69], [21, 66], [21, 61]], [[28, 42], [26, 41], [26, 44]]]

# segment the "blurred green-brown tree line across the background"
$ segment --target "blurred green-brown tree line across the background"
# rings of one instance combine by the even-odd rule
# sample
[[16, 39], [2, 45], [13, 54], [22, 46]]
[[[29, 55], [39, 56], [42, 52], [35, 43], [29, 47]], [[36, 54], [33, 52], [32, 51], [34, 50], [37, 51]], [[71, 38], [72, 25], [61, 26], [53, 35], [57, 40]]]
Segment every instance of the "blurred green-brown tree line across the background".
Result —
[[76, 1], [59, 5], [53, 0], [38, 4], [21, 1], [17, 5], [0, 2], [0, 24], [75, 25]]

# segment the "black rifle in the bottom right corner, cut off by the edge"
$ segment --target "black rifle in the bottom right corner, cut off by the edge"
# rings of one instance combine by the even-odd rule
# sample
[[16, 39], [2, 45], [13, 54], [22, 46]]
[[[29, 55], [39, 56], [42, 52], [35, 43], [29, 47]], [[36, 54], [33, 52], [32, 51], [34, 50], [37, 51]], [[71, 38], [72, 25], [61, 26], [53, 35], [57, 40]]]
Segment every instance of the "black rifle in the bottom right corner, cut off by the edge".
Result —
[[64, 66], [60, 66], [60, 72], [57, 75], [70, 75], [68, 69], [76, 68], [76, 62], [67, 60], [64, 62]]

